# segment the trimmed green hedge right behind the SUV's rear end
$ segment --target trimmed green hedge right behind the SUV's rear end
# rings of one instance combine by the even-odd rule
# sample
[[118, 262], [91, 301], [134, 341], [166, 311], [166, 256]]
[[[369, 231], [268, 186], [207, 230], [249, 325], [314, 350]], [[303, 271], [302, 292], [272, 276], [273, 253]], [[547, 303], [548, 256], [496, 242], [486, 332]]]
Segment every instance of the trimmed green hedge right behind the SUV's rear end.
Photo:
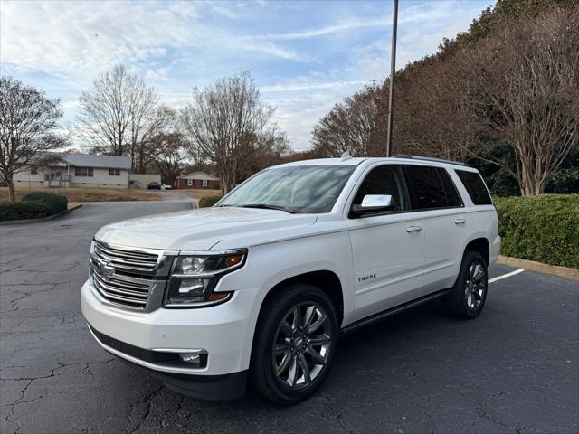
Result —
[[579, 269], [579, 194], [496, 198], [501, 254]]

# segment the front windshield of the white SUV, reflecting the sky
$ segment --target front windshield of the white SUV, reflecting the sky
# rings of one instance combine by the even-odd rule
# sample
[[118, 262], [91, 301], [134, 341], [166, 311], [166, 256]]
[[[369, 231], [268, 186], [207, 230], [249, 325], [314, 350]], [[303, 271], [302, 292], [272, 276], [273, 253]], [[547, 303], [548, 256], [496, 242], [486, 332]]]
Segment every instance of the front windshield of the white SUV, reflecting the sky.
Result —
[[296, 165], [264, 170], [241, 184], [219, 206], [329, 212], [355, 169], [356, 165]]

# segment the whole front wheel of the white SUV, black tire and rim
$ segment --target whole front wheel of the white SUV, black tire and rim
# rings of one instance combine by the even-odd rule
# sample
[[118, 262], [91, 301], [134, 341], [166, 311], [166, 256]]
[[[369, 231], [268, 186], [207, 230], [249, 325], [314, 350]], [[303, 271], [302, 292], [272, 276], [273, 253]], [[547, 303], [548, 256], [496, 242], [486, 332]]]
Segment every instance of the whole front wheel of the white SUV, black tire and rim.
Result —
[[308, 284], [282, 288], [268, 299], [253, 339], [250, 381], [263, 397], [292, 404], [314, 394], [337, 350], [336, 307]]

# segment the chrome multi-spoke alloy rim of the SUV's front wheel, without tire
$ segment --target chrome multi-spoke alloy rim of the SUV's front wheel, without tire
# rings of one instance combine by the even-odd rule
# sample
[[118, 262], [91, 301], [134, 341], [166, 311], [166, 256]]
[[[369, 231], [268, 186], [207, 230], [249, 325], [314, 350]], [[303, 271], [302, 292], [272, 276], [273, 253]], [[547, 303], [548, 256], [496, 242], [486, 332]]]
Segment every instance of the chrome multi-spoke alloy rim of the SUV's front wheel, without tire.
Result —
[[308, 387], [324, 369], [332, 345], [326, 310], [315, 302], [292, 307], [283, 317], [272, 348], [275, 375], [292, 391]]

